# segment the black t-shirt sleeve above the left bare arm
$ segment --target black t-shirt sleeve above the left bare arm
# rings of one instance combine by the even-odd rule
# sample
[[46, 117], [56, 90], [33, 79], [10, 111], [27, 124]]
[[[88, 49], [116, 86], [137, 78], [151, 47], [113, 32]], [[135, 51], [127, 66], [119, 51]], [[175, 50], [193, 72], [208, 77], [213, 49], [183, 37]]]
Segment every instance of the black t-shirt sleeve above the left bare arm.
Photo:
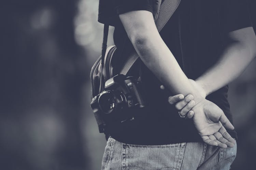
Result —
[[152, 0], [112, 0], [117, 14], [130, 11], [146, 10], [153, 12]]

